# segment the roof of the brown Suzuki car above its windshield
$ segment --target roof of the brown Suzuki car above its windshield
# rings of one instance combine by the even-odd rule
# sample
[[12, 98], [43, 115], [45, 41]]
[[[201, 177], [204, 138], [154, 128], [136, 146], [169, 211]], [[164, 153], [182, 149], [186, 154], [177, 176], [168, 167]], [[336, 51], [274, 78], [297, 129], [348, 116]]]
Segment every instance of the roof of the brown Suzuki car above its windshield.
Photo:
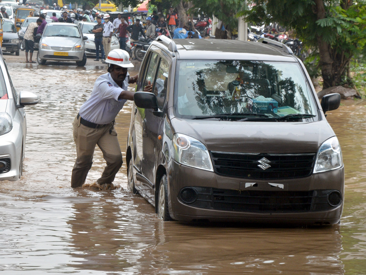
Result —
[[[179, 59], [248, 59], [292, 61], [293, 55], [272, 45], [227, 39], [174, 39]], [[154, 43], [155, 44], [155, 43]]]

